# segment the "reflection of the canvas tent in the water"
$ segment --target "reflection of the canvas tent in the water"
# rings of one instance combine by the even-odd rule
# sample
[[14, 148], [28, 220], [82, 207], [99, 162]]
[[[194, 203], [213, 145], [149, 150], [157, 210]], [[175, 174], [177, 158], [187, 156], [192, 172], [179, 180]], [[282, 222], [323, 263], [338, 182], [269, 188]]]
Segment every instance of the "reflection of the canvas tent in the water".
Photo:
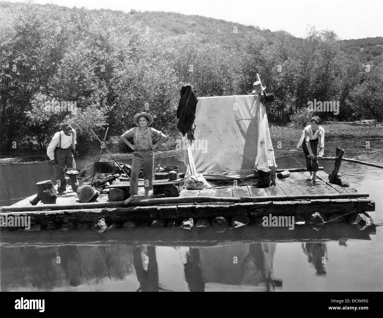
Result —
[[[275, 279], [273, 260], [277, 244], [260, 242], [191, 247], [187, 252], [185, 280], [191, 292], [275, 291], [282, 280]], [[225, 286], [226, 285], [226, 286]]]

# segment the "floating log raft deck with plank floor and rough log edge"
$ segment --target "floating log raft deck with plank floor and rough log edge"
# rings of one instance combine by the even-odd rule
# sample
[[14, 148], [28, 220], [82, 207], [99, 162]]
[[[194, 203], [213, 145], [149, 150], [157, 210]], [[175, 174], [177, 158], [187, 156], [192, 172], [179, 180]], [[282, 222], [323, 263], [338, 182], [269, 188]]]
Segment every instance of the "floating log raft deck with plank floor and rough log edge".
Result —
[[[100, 194], [96, 202], [80, 203], [72, 191], [59, 196], [56, 204], [31, 206], [29, 200], [34, 198], [33, 195], [10, 207], [0, 208], [0, 216], [30, 216], [31, 229], [70, 229], [90, 227], [100, 218], [104, 218], [108, 226], [117, 224], [119, 227], [126, 221], [139, 225], [160, 219], [166, 225], [166, 221], [171, 220], [179, 222], [191, 217], [196, 222], [200, 218], [211, 220], [219, 216], [229, 220], [247, 217], [258, 223], [256, 220], [269, 214], [305, 218], [315, 212], [321, 213], [327, 221], [334, 215], [352, 216], [375, 211], [375, 202], [368, 199], [368, 194], [327, 182], [329, 176], [324, 171], [318, 171], [320, 181], [316, 183], [306, 181], [307, 175], [307, 172], [291, 172], [288, 178], [277, 178], [277, 186], [270, 188], [246, 185], [182, 189], [178, 197], [152, 195], [147, 200], [143, 199], [144, 190], [140, 187], [137, 199], [128, 206], [123, 201], [109, 202], [106, 194]], [[154, 186], [161, 181], [154, 181]], [[110, 187], [124, 186], [129, 186], [129, 182], [120, 181]]]

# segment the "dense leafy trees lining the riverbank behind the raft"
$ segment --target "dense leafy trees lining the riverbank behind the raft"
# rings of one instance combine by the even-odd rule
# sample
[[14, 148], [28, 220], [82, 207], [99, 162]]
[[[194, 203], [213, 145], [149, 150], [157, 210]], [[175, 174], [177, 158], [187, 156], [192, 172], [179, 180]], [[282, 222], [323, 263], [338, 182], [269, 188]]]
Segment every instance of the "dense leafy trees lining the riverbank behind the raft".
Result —
[[[275, 94], [267, 107], [274, 124], [305, 116], [314, 99], [339, 101], [339, 114], [322, 119], [383, 119], [382, 66], [367, 69], [347, 56], [332, 31], [311, 28], [296, 40], [281, 32], [272, 44], [249, 32], [242, 49], [232, 51], [195, 33], [161, 38], [131, 13], [24, 3], [0, 12], [0, 43], [2, 153], [14, 142], [46, 149], [64, 119], [83, 153], [95, 143], [90, 129], [121, 135], [144, 110], [169, 134], [183, 83], [201, 97], [250, 94], [256, 72]], [[47, 110], [52, 101], [63, 111]], [[76, 109], [60, 109], [66, 102]]]

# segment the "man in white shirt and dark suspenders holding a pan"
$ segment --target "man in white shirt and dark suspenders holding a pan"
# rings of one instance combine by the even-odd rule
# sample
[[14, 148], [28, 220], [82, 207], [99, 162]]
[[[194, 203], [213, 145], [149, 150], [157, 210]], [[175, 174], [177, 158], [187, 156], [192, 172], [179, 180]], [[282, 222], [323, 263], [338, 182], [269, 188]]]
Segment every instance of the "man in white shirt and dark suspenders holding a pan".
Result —
[[66, 194], [66, 182], [64, 178], [64, 171], [55, 166], [55, 164], [65, 168], [76, 168], [76, 163], [73, 157], [73, 151], [76, 148], [76, 131], [72, 128], [69, 122], [64, 122], [61, 125], [61, 131], [56, 132], [52, 138], [51, 143], [47, 149], [47, 155], [54, 165], [56, 173], [56, 182], [58, 182], [57, 191], [59, 194]]

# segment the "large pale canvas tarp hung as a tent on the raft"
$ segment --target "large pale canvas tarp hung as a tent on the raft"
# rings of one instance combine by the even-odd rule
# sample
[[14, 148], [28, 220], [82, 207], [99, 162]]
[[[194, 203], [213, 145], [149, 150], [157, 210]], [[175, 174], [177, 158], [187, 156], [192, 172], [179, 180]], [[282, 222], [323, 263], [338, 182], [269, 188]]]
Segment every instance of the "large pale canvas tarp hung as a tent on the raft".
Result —
[[197, 172], [238, 178], [277, 166], [258, 95], [200, 97], [194, 122]]

